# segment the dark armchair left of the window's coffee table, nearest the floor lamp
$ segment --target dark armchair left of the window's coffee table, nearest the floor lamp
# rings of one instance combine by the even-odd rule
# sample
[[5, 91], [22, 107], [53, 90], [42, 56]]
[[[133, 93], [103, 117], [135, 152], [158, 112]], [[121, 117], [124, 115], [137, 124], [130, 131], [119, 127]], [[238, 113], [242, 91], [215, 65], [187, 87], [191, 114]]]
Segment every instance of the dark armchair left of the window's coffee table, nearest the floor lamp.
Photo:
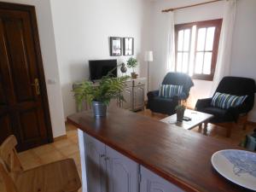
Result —
[[183, 85], [183, 92], [179, 96], [163, 98], [159, 96], [159, 90], [148, 92], [147, 108], [155, 113], [165, 113], [172, 115], [180, 100], [189, 97], [190, 88], [194, 85], [189, 75], [185, 73], [167, 73], [162, 84]]

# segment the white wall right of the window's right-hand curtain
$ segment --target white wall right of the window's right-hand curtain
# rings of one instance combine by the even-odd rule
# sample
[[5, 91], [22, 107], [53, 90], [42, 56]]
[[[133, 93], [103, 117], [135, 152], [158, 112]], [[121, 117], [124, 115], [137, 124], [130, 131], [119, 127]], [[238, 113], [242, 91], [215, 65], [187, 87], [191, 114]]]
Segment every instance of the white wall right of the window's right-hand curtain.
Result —
[[[239, 0], [233, 36], [231, 75], [256, 79], [255, 20], [256, 1]], [[256, 101], [250, 119], [256, 122]]]

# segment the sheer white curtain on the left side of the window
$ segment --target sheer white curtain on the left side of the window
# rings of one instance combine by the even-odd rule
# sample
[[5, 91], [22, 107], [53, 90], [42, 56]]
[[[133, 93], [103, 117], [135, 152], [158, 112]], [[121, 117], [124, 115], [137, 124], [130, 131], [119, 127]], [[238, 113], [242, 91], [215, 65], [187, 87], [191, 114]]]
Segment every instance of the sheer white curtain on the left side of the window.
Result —
[[166, 13], [166, 17], [165, 64], [167, 72], [170, 72], [175, 69], [174, 12]]

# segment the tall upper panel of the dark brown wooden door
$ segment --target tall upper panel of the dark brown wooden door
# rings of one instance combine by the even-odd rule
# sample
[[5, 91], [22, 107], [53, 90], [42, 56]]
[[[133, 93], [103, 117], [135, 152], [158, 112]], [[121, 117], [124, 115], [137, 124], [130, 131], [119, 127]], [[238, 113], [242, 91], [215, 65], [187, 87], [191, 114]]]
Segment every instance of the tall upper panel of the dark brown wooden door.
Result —
[[3, 20], [4, 35], [8, 42], [9, 70], [14, 82], [17, 102], [33, 99], [30, 70], [26, 58], [26, 39], [24, 38], [22, 20]]

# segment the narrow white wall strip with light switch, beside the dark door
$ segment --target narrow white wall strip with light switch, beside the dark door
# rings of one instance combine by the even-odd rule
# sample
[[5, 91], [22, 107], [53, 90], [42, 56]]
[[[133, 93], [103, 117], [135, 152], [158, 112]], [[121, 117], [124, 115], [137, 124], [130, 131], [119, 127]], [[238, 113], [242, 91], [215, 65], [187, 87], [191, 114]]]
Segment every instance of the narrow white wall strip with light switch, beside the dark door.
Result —
[[55, 84], [47, 84], [49, 112], [54, 137], [66, 134], [61, 97], [61, 86], [55, 51], [55, 37], [49, 0], [4, 0], [8, 3], [30, 4], [36, 7], [39, 39], [44, 63], [46, 81], [54, 79]]

